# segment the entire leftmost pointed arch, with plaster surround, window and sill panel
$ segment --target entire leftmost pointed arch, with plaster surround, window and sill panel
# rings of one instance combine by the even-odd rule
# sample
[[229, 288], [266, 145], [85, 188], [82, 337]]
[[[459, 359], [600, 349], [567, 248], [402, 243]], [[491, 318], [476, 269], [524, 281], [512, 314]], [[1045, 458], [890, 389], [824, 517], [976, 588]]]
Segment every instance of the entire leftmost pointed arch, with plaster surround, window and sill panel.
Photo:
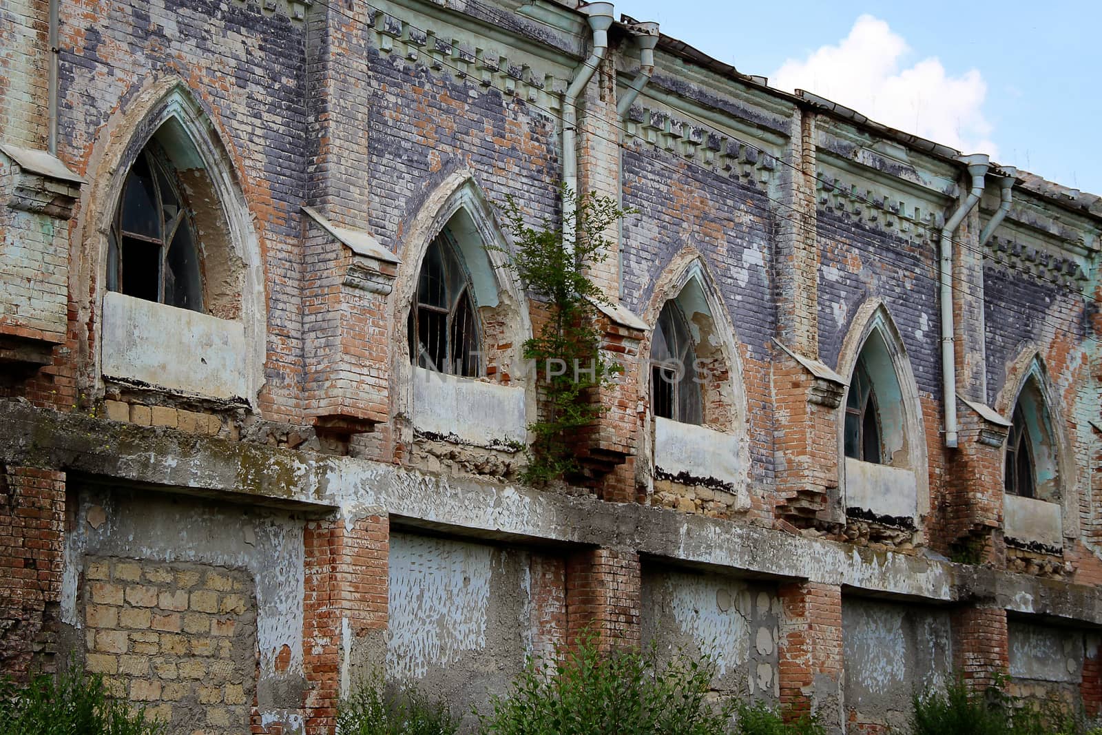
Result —
[[122, 117], [133, 132], [95, 156], [109, 174], [87, 202], [100, 375], [251, 403], [263, 383], [263, 266], [230, 155], [183, 83], [151, 85]]

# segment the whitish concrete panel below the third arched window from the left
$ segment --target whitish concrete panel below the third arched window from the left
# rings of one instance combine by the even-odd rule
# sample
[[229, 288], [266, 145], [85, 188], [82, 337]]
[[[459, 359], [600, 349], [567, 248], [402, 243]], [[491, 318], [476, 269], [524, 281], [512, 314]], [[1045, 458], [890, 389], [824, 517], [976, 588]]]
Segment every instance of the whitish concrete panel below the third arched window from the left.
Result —
[[744, 475], [738, 437], [655, 417], [655, 471], [683, 485], [737, 493]]

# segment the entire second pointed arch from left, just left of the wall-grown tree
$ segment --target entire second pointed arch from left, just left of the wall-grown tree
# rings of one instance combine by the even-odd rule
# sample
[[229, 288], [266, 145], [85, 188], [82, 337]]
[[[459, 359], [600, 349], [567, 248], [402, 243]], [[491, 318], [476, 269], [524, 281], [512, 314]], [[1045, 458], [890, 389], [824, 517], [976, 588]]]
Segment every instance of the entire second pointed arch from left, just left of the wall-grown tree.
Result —
[[515, 451], [527, 440], [534, 397], [525, 390], [522, 345], [531, 325], [523, 292], [504, 267], [506, 247], [468, 172], [449, 176], [411, 224], [392, 296], [392, 323], [404, 331], [391, 355], [402, 443]]

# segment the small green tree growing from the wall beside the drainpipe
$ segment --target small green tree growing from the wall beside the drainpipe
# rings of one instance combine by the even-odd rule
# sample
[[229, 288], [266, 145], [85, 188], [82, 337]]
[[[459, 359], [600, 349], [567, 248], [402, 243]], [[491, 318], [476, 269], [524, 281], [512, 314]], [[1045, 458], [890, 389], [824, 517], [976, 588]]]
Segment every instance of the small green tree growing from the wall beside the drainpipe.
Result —
[[[612, 381], [620, 370], [601, 357], [596, 304], [608, 298], [590, 278], [590, 270], [608, 257], [604, 233], [633, 210], [596, 193], [576, 196], [563, 190], [564, 227], [544, 219], [539, 227], [525, 221], [523, 210], [511, 196], [503, 207], [505, 227], [515, 248], [487, 246], [505, 256], [506, 266], [547, 309], [537, 334], [525, 342], [523, 355], [537, 370], [541, 407], [527, 447], [528, 467], [522, 480], [545, 484], [577, 474], [581, 466], [572, 440], [602, 412], [593, 390]], [[573, 207], [569, 204], [573, 203]], [[572, 231], [571, 240], [564, 231]]]

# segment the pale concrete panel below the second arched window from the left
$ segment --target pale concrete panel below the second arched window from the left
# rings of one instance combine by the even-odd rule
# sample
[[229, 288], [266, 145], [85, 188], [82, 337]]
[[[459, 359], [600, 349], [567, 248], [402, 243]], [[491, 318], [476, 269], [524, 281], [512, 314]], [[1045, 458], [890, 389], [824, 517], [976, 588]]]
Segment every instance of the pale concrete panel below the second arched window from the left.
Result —
[[528, 435], [525, 389], [414, 366], [413, 429], [462, 444], [510, 448]]

